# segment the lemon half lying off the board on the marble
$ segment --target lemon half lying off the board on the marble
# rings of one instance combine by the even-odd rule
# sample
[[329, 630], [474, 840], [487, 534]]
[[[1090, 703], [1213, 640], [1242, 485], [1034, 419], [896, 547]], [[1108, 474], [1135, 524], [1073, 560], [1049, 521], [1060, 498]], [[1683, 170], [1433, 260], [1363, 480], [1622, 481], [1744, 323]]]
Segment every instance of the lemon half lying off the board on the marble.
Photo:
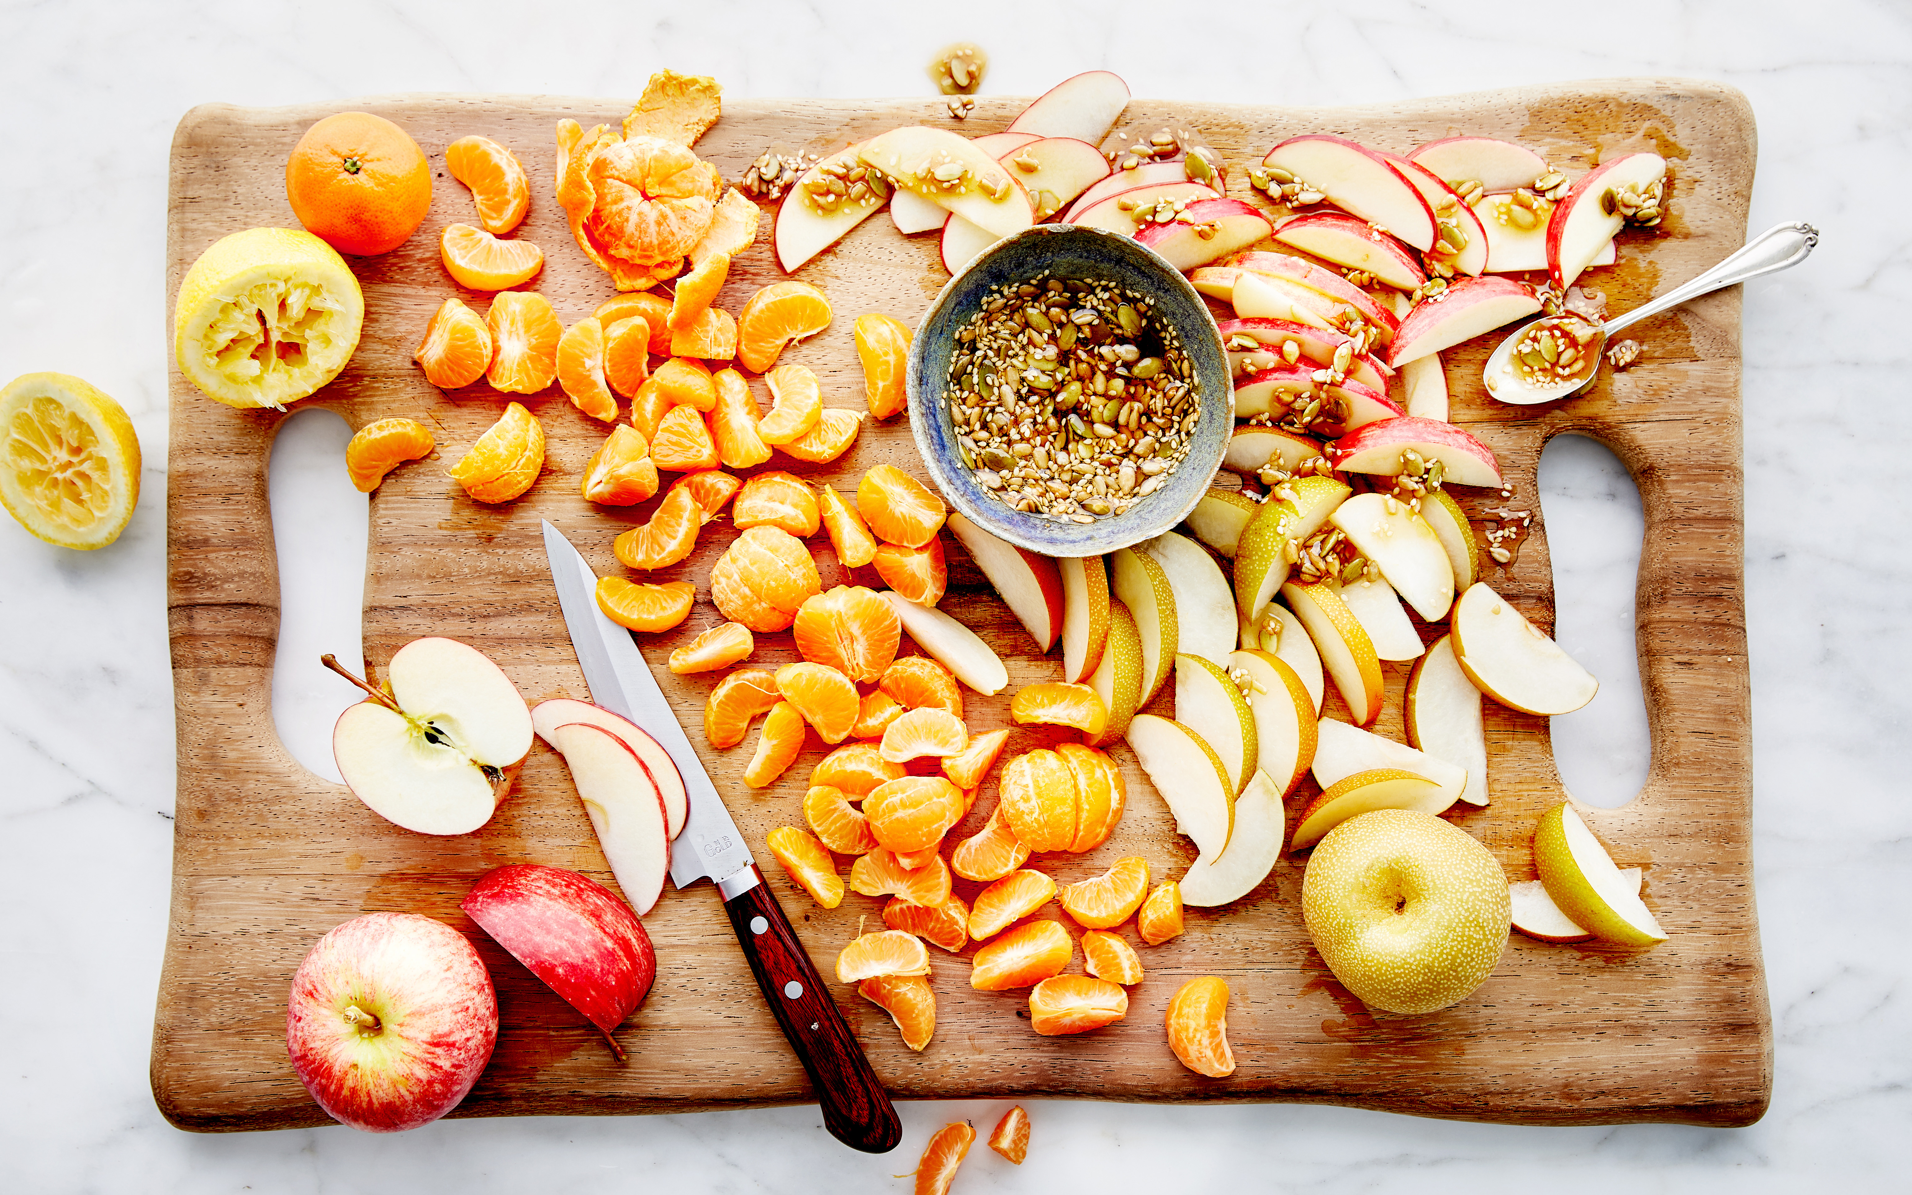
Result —
[[119, 539], [140, 503], [140, 438], [124, 407], [65, 373], [0, 390], [0, 503], [48, 543]]

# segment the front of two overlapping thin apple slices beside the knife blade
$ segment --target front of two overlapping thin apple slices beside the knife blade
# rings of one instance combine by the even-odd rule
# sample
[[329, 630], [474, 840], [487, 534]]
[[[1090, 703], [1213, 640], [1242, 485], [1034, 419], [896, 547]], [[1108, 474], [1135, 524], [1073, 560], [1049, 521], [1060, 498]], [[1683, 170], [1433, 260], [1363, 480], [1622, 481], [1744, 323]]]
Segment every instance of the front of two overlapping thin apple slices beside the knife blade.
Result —
[[663, 876], [671, 866], [663, 797], [650, 771], [619, 736], [593, 723], [556, 727], [551, 742], [572, 769], [572, 782], [623, 899], [637, 916], [648, 914], [663, 893]]

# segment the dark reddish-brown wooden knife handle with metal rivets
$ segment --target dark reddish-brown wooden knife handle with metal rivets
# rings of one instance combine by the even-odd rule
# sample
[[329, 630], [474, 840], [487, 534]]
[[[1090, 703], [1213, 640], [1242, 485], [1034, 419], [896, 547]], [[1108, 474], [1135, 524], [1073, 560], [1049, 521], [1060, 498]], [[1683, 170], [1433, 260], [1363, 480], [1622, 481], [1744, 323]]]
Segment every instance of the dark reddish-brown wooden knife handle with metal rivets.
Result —
[[[750, 870], [757, 883], [728, 897], [723, 906], [763, 998], [816, 1088], [824, 1128], [851, 1149], [889, 1153], [902, 1140], [897, 1109], [797, 941], [797, 931], [790, 927], [776, 895], [763, 881], [763, 872], [755, 864]], [[734, 881], [727, 887], [734, 887]]]

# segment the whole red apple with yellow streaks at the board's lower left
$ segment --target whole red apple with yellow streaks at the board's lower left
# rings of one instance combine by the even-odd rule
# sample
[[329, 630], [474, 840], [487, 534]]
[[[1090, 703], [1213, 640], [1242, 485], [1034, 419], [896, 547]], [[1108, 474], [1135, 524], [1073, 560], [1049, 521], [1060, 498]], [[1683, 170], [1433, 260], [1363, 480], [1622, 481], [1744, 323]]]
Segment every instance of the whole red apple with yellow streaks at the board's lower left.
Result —
[[432, 918], [354, 918], [293, 973], [285, 1052], [340, 1124], [430, 1124], [472, 1090], [495, 1042], [491, 975], [465, 935]]

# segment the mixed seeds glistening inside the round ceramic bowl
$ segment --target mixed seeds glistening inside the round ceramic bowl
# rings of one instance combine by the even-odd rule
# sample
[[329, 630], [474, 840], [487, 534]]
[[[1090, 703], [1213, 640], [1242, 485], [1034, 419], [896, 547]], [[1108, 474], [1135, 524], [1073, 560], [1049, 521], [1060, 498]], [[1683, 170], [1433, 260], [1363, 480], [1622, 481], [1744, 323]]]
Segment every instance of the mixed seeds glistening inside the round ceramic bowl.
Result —
[[1004, 283], [956, 342], [943, 405], [964, 465], [1006, 507], [1109, 518], [1189, 451], [1199, 386], [1145, 294], [1046, 273]]

